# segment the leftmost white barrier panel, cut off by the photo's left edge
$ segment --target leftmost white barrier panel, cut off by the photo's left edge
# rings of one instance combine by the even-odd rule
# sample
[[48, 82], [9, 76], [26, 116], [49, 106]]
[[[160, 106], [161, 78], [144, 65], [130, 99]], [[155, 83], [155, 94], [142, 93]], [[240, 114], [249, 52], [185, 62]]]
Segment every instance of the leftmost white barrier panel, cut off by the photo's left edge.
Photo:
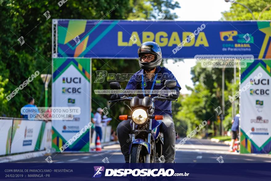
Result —
[[0, 119], [0, 155], [10, 153], [12, 119]]

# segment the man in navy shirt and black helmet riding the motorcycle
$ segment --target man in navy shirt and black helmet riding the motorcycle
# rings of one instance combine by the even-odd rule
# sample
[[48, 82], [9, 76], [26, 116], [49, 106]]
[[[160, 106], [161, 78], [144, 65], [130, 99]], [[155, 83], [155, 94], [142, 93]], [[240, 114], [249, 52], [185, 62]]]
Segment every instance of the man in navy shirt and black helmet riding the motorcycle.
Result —
[[[162, 52], [157, 43], [142, 43], [138, 49], [138, 56], [139, 66], [142, 69], [131, 77], [125, 89], [140, 90], [144, 86], [145, 90], [160, 90], [164, 86], [165, 80], [176, 80], [171, 71], [169, 71], [167, 68], [160, 67], [162, 62]], [[144, 80], [146, 81], [143, 81], [141, 78], [137, 78], [142, 75], [144, 75]], [[170, 89], [175, 89], [176, 93], [169, 93], [168, 98], [177, 99], [180, 95], [181, 89], [179, 83], [177, 82], [176, 87]], [[144, 97], [142, 94], [137, 96], [140, 98]], [[157, 94], [151, 95], [151, 97], [155, 96], [157, 96]], [[120, 97], [121, 96], [119, 94], [114, 94], [111, 96], [111, 100], [117, 100], [120, 99]], [[171, 101], [155, 101], [154, 114], [164, 115], [164, 119], [160, 125], [160, 131], [163, 132], [164, 135], [163, 155], [166, 162], [172, 163], [175, 159], [176, 135], [174, 122], [172, 120]], [[131, 139], [129, 134], [131, 134], [130, 121], [120, 122], [117, 127], [117, 135], [125, 162], [129, 162], [130, 158], [129, 145], [131, 144]]]

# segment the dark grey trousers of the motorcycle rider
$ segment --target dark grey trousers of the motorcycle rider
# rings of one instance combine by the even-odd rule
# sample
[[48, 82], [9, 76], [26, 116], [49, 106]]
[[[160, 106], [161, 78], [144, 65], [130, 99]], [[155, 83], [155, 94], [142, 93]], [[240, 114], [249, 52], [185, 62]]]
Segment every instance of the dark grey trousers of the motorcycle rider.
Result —
[[[131, 134], [130, 120], [122, 121], [117, 127], [117, 135], [119, 138], [119, 144], [122, 154], [124, 155], [125, 162], [129, 162], [129, 146], [131, 144], [131, 139], [129, 134]], [[166, 163], [173, 163], [175, 159], [175, 127], [172, 117], [169, 115], [164, 115], [164, 119], [160, 124], [160, 132], [164, 135], [164, 148], [163, 155], [165, 157]]]

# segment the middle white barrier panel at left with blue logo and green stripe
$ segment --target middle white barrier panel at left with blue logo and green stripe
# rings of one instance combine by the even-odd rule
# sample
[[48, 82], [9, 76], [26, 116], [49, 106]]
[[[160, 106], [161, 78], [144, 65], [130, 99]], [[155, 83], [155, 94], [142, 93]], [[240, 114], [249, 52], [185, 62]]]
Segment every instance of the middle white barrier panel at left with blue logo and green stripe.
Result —
[[43, 121], [14, 120], [10, 153], [39, 150]]

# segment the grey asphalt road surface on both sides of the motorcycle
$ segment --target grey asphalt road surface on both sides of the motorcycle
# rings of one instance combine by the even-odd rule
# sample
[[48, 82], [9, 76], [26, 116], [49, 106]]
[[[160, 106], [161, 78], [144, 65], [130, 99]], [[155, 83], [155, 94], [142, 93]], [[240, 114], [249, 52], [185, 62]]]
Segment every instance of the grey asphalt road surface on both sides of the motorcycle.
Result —
[[[270, 163], [270, 155], [256, 154], [238, 154], [230, 153], [229, 146], [223, 143], [215, 143], [205, 139], [191, 139], [186, 141], [184, 145], [176, 142], [177, 163], [218, 163], [217, 158], [220, 157], [220, 162], [223, 159], [224, 163]], [[16, 162], [31, 162], [42, 163], [47, 162], [47, 156], [30, 158]], [[110, 163], [123, 163], [124, 158], [118, 144], [105, 146], [102, 151], [91, 151], [88, 153], [54, 153], [51, 155], [55, 163], [100, 163], [104, 159]]]

